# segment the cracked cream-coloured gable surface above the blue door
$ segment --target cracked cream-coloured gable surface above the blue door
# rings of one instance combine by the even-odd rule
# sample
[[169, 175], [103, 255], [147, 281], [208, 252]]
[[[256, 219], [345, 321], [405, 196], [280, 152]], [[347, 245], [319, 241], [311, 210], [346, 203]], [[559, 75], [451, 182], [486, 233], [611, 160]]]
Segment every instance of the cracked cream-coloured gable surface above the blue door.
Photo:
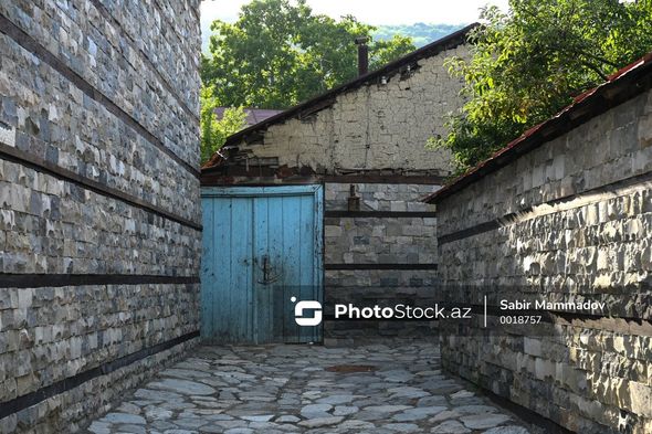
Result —
[[240, 146], [251, 163], [277, 159], [278, 166], [309, 167], [317, 172], [346, 170], [450, 173], [450, 155], [428, 150], [430, 137], [444, 135], [444, 116], [462, 104], [460, 78], [444, 66], [449, 56], [467, 56], [467, 46], [420, 60], [409, 73], [387, 84], [362, 85], [339, 94], [333, 106], [302, 119], [274, 124], [262, 145]]

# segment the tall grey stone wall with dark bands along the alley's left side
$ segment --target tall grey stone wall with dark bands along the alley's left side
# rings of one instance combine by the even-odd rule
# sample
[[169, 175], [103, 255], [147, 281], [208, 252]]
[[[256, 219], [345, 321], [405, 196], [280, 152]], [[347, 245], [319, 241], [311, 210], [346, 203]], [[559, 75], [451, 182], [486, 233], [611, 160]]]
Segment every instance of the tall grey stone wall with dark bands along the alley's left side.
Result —
[[74, 432], [196, 341], [199, 1], [0, 3], [0, 432]]

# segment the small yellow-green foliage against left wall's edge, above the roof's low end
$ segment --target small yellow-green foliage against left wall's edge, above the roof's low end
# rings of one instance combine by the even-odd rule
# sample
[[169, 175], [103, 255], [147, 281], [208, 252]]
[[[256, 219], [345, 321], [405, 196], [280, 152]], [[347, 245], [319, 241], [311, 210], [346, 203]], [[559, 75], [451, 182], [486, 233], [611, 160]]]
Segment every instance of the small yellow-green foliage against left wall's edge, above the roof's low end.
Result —
[[245, 125], [246, 114], [242, 107], [227, 108], [221, 119], [215, 116], [215, 108], [221, 106], [212, 87], [202, 86], [200, 102], [200, 152], [201, 162], [208, 161], [224, 145], [227, 137], [239, 131]]

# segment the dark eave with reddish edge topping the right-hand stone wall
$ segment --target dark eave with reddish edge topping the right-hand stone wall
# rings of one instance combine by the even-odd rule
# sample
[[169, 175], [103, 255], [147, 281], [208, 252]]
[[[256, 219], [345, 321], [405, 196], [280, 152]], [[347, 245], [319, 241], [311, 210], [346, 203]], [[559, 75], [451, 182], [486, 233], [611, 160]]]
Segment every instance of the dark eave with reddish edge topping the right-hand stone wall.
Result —
[[652, 88], [652, 52], [619, 70], [608, 81], [574, 98], [572, 103], [548, 120], [525, 131], [473, 169], [425, 197], [439, 203], [485, 176], [502, 169], [518, 157], [579, 127], [586, 121]]

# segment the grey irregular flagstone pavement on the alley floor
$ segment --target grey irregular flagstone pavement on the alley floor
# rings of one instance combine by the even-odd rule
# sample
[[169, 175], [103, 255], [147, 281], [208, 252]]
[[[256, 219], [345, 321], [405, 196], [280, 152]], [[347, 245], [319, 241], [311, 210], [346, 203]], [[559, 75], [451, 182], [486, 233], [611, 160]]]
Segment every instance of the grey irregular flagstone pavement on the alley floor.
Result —
[[529, 433], [442, 373], [432, 343], [200, 347], [88, 432]]

